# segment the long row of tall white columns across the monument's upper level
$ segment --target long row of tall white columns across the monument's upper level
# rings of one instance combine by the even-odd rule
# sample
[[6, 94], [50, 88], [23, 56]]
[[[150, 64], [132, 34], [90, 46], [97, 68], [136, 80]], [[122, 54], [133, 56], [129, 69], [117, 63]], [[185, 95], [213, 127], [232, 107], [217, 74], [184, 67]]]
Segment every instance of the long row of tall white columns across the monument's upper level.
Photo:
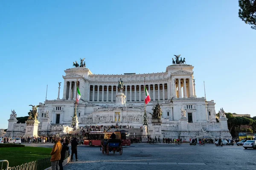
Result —
[[[79, 84], [79, 82], [78, 82]], [[79, 85], [78, 85], [79, 86]], [[195, 81], [189, 78], [172, 78], [168, 83], [146, 84], [151, 101], [196, 97]], [[127, 102], [144, 101], [144, 85], [124, 85]], [[86, 90], [87, 91], [87, 90]], [[80, 89], [84, 92], [84, 89]], [[115, 102], [117, 85], [88, 85], [87, 99], [96, 102]], [[83, 96], [83, 95], [82, 95]], [[63, 99], [76, 99], [76, 81], [64, 81]]]

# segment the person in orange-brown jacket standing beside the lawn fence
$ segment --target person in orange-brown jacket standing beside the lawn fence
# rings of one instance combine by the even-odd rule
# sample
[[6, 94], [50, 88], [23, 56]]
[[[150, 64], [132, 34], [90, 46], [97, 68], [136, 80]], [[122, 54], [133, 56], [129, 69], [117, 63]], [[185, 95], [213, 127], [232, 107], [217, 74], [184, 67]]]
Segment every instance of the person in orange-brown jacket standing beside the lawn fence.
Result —
[[56, 137], [54, 140], [55, 144], [52, 148], [51, 152], [51, 162], [52, 162], [52, 170], [59, 170], [59, 160], [61, 160], [61, 150], [62, 150], [62, 145], [61, 145], [61, 137]]

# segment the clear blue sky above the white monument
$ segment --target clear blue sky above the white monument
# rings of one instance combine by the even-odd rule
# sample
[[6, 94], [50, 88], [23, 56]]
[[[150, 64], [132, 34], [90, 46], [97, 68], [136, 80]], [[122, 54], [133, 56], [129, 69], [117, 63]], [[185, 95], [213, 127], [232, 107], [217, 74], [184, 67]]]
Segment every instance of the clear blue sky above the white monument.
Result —
[[62, 82], [62, 98], [64, 70], [79, 58], [93, 74], [143, 74], [181, 54], [216, 112], [256, 116], [256, 30], [238, 10], [238, 0], [1, 0], [0, 128], [11, 109], [28, 116], [44, 102], [47, 85], [56, 99]]

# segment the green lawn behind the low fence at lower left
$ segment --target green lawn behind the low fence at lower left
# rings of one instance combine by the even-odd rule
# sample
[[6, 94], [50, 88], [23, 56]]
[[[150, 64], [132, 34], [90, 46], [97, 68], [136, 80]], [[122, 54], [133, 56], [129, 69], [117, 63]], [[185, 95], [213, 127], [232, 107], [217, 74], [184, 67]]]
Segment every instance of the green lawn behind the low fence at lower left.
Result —
[[47, 158], [51, 156], [51, 151], [52, 148], [44, 147], [1, 147], [0, 160], [6, 159], [9, 161], [9, 167], [15, 167], [26, 162]]

